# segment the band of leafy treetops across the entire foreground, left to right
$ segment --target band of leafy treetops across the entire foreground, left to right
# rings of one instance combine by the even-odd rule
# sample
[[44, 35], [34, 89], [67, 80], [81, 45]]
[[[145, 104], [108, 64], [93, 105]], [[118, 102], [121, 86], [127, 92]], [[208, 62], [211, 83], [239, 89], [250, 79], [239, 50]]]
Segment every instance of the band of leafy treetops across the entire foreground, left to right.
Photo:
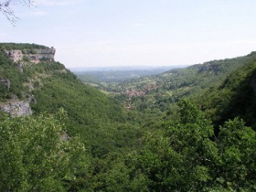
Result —
[[85, 158], [78, 139], [60, 139], [62, 110], [55, 117], [2, 117], [0, 190], [255, 190], [254, 130], [235, 118], [215, 136], [210, 120], [190, 101], [179, 106], [181, 119], [145, 136], [142, 149], [112, 152], [104, 161]]

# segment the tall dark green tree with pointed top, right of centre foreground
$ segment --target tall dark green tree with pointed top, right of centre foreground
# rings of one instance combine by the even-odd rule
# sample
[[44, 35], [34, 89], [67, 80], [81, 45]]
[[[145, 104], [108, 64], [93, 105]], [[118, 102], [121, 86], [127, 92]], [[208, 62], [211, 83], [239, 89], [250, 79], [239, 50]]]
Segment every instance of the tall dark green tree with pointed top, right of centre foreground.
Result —
[[212, 183], [218, 151], [210, 121], [190, 101], [180, 101], [181, 120], [165, 122], [162, 136], [146, 138], [138, 169], [152, 191], [203, 191]]

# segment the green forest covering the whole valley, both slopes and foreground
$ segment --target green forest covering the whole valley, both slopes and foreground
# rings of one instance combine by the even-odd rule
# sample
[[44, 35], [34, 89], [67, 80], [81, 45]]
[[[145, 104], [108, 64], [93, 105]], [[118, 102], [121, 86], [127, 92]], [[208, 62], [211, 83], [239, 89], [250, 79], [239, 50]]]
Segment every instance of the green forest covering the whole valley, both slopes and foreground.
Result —
[[0, 107], [33, 111], [1, 111], [1, 191], [256, 190], [255, 52], [100, 87], [5, 53], [45, 48], [0, 43]]

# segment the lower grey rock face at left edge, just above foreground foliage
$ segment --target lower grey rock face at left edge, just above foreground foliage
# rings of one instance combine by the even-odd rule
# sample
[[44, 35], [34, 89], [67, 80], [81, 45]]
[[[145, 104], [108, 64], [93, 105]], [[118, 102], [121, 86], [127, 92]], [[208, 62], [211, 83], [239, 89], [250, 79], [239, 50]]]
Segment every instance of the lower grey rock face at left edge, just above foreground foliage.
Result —
[[5, 111], [11, 116], [30, 116], [32, 114], [32, 110], [30, 104], [27, 101], [12, 101], [5, 104], [0, 104], [0, 108], [2, 111]]

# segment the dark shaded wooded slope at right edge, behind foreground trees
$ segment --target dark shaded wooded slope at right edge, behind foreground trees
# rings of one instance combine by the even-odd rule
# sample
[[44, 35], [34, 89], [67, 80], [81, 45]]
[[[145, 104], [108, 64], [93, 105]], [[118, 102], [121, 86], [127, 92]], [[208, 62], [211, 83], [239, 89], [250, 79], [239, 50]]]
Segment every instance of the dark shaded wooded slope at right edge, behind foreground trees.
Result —
[[[248, 56], [253, 56], [251, 53]], [[208, 117], [221, 124], [242, 117], [248, 126], [255, 126], [256, 59], [245, 62], [216, 86], [207, 88], [195, 98]]]

